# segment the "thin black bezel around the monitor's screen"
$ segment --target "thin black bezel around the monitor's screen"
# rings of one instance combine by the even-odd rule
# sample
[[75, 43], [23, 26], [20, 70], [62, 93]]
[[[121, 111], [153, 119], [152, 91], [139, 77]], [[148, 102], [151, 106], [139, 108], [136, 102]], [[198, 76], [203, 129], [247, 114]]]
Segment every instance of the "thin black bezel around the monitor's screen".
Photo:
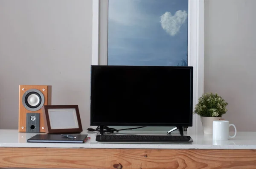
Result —
[[[178, 69], [189, 69], [190, 70], [190, 120], [189, 123], [106, 123], [106, 122], [95, 122], [92, 121], [92, 79], [93, 79], [93, 69], [96, 67], [171, 67]], [[148, 127], [173, 127], [173, 126], [186, 126], [192, 127], [193, 122], [193, 67], [192, 66], [134, 66], [134, 65], [91, 65], [90, 68], [90, 126], [148, 126]]]

